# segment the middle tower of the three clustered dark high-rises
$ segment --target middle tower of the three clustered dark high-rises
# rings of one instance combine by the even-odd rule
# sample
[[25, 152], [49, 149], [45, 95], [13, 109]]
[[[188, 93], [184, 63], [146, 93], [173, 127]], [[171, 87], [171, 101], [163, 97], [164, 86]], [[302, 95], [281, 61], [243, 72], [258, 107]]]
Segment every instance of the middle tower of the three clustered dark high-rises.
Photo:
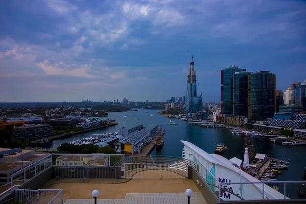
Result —
[[233, 114], [248, 116], [248, 75], [241, 71], [233, 75]]

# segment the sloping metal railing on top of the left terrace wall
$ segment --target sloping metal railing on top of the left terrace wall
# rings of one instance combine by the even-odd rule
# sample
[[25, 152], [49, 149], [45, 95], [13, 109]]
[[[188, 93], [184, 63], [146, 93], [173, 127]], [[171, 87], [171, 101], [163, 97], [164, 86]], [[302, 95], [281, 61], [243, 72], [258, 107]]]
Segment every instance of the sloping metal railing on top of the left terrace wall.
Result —
[[28, 183], [38, 174], [44, 172], [46, 169], [52, 166], [52, 155], [48, 155], [41, 160], [13, 173], [10, 177], [11, 191], [15, 187], [20, 187], [23, 184]]

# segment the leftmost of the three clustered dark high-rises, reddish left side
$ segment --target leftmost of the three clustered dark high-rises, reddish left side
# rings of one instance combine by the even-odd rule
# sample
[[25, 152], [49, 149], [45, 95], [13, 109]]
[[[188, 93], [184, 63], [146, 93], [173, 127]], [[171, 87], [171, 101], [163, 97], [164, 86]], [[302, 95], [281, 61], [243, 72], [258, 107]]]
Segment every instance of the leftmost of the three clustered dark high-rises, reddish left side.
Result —
[[238, 66], [230, 66], [221, 70], [221, 113], [233, 114], [233, 75], [246, 71]]

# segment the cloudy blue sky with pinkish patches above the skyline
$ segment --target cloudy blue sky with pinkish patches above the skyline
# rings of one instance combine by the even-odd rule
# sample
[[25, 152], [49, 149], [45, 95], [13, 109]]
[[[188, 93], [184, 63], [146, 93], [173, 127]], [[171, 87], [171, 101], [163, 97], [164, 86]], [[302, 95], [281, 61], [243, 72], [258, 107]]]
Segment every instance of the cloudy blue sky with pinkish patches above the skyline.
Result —
[[286, 90], [306, 79], [306, 1], [1, 2], [0, 101], [165, 101], [192, 55], [203, 101], [231, 65]]

